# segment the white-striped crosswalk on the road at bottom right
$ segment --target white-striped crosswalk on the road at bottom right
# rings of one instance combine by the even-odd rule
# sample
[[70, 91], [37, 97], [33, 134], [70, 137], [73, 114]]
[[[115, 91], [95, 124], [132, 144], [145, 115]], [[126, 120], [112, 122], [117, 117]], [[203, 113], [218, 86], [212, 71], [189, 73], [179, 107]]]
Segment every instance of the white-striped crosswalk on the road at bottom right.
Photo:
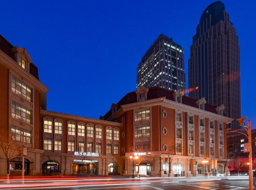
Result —
[[228, 186], [228, 185], [219, 185], [214, 184], [214, 182], [206, 182], [206, 183], [184, 183], [182, 185], [185, 186], [193, 186], [198, 187], [198, 189], [208, 189], [208, 190], [235, 190], [235, 189], [248, 189], [244, 187], [237, 187], [237, 186]]

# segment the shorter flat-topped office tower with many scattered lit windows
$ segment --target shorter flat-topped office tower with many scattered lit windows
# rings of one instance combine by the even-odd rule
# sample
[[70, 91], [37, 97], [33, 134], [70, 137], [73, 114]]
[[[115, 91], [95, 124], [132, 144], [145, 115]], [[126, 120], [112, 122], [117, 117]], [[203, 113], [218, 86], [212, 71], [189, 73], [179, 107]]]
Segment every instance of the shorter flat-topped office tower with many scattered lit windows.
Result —
[[164, 34], [158, 36], [137, 67], [137, 89], [155, 86], [172, 91], [186, 89], [183, 48]]

